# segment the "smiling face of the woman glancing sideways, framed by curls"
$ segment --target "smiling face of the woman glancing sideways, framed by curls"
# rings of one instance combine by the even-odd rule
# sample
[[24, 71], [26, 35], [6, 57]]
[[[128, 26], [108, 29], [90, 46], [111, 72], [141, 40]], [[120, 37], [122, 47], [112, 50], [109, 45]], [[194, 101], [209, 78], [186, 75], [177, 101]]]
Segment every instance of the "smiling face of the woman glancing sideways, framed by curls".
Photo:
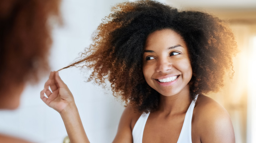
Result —
[[172, 96], [189, 90], [192, 67], [185, 41], [173, 30], [151, 33], [145, 43], [143, 74], [147, 84], [161, 95]]

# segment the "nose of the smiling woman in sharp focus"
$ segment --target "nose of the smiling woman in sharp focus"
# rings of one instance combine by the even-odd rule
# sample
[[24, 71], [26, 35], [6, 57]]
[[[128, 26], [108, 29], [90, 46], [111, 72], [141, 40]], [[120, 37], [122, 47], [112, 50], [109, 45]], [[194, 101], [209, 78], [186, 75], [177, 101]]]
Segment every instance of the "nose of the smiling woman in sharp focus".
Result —
[[157, 61], [157, 72], [166, 72], [172, 69], [172, 62], [167, 58], [161, 58]]

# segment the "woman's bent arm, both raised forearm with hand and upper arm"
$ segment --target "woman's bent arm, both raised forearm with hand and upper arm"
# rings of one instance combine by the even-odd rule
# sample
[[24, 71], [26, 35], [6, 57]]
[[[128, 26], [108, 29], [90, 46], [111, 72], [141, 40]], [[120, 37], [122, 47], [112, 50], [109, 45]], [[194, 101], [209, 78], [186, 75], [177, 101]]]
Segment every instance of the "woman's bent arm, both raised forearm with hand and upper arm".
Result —
[[[49, 90], [49, 87], [52, 91]], [[47, 97], [44, 96], [47, 95]], [[65, 124], [71, 143], [89, 143], [84, 131], [74, 97], [67, 85], [61, 80], [58, 72], [51, 72], [45, 83], [44, 89], [40, 93], [44, 103], [58, 111]], [[137, 113], [138, 114], [138, 113]], [[117, 135], [113, 142], [132, 143], [131, 121], [136, 115], [132, 107], [127, 106], [121, 116]]]

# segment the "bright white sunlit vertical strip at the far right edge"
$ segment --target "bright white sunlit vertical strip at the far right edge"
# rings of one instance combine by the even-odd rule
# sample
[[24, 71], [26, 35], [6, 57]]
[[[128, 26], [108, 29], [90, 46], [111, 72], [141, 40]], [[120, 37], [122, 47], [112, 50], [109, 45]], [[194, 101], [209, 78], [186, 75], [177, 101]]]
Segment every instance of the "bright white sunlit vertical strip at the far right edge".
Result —
[[252, 48], [249, 55], [249, 69], [248, 69], [248, 118], [247, 118], [247, 142], [256, 142], [256, 36], [252, 38]]

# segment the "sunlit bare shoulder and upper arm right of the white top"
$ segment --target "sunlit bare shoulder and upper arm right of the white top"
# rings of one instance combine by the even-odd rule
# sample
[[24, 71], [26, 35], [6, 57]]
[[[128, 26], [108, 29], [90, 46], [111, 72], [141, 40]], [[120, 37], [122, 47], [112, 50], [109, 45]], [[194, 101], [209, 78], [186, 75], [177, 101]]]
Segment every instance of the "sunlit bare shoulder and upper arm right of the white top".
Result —
[[226, 109], [213, 99], [199, 95], [193, 112], [195, 124], [202, 143], [234, 143], [235, 135]]

